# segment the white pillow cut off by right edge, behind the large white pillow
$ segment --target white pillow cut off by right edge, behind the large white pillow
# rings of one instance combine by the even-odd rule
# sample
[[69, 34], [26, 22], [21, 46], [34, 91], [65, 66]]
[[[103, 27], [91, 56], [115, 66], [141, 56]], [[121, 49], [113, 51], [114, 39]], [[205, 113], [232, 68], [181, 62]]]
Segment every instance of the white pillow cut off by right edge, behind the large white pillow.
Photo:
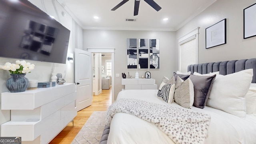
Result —
[[246, 114], [256, 114], [256, 84], [251, 84], [245, 95]]

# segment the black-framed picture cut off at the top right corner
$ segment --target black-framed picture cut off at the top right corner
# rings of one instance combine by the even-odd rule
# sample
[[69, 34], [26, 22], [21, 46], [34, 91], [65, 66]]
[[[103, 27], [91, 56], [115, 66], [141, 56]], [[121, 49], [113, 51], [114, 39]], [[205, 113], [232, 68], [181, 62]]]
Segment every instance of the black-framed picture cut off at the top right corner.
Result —
[[256, 3], [244, 9], [244, 39], [256, 36]]

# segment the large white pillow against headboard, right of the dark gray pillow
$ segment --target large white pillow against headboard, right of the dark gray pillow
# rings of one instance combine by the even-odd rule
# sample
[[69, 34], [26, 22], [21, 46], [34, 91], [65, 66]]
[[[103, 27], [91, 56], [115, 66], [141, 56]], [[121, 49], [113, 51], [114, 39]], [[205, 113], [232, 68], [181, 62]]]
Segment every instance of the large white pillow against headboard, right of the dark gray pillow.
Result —
[[244, 96], [248, 92], [252, 76], [252, 69], [225, 76], [216, 75], [206, 105], [244, 118], [246, 116]]

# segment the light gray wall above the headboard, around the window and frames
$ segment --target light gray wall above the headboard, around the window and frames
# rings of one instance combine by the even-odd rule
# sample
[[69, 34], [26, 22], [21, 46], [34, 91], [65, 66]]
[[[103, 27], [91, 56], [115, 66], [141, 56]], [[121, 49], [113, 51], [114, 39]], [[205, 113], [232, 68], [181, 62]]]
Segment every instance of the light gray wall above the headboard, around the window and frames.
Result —
[[[199, 63], [218, 62], [255, 58], [256, 37], [243, 39], [243, 10], [254, 4], [255, 0], [217, 0], [176, 32], [176, 40], [196, 27], [199, 29]], [[227, 19], [227, 43], [213, 48], [205, 48], [205, 29]], [[178, 42], [176, 41], [176, 54]], [[178, 55], [176, 55], [178, 68]]]

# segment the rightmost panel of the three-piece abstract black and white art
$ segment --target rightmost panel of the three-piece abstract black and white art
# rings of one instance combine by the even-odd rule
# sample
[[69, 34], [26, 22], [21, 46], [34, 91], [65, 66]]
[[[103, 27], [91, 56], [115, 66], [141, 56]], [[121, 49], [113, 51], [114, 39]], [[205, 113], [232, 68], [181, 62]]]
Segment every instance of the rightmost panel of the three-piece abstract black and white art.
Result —
[[150, 68], [159, 68], [159, 39], [149, 39], [150, 45]]

